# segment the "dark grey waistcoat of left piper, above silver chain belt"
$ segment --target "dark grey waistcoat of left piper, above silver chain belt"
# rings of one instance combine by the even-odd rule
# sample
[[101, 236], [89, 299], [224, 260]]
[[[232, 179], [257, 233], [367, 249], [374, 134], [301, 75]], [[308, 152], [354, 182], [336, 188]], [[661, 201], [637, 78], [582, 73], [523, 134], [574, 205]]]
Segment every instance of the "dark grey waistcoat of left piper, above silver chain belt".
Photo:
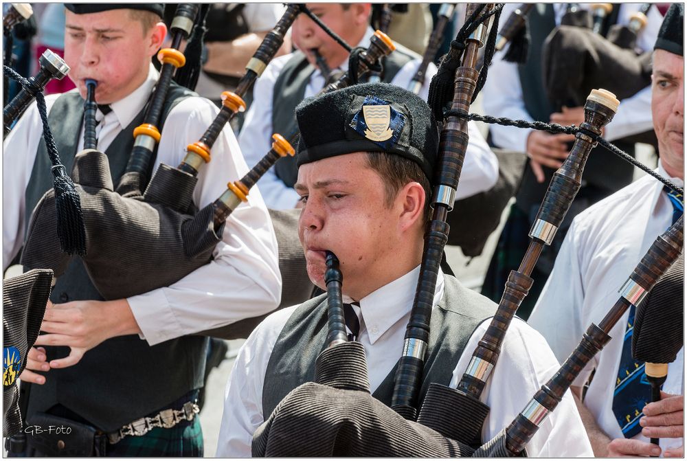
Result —
[[[191, 95], [172, 85], [162, 120], [172, 107]], [[48, 116], [60, 159], [71, 172], [83, 118], [83, 103], [78, 93], [60, 96]], [[133, 146], [133, 128], [142, 123], [144, 111], [127, 126], [106, 150], [113, 183], [126, 168]], [[52, 188], [52, 173], [41, 140], [26, 190], [26, 222], [43, 194]], [[81, 260], [74, 258], [50, 296], [52, 302], [102, 300], [89, 280]], [[69, 368], [50, 370], [44, 385], [32, 386], [27, 416], [45, 412], [61, 404], [82, 416], [98, 429], [113, 431], [151, 412], [164, 409], [190, 390], [203, 385], [205, 337], [188, 336], [156, 346], [138, 335], [115, 337], [86, 352]], [[66, 347], [46, 347], [47, 359], [69, 354]]]

